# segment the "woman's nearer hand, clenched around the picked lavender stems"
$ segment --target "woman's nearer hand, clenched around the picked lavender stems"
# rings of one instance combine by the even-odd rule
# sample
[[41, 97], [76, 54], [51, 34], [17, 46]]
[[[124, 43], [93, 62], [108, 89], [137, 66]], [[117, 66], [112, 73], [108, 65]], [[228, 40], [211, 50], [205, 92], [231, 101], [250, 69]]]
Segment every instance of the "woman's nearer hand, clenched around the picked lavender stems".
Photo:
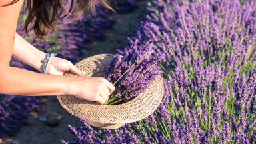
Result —
[[74, 77], [69, 94], [87, 101], [106, 104], [115, 86], [101, 77]]

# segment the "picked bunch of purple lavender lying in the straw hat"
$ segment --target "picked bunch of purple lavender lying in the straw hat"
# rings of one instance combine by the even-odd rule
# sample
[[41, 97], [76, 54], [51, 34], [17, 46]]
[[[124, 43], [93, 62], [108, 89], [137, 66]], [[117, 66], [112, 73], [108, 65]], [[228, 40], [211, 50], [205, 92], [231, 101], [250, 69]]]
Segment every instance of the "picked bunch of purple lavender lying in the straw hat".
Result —
[[117, 54], [111, 69], [107, 70], [105, 77], [115, 83], [115, 96], [119, 99], [131, 100], [145, 91], [150, 82], [161, 74], [158, 65], [159, 57], [153, 54], [153, 44], [138, 45], [133, 43], [131, 47]]

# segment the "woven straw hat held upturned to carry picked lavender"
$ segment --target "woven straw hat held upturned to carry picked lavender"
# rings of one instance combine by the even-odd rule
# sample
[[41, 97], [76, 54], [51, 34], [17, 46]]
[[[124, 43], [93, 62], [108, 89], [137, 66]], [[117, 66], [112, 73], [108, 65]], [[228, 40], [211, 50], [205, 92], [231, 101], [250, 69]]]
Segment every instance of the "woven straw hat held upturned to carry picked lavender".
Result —
[[[103, 77], [105, 68], [111, 65], [114, 55], [101, 54], [89, 57], [76, 63], [81, 71], [86, 71], [85, 77]], [[77, 77], [71, 73], [66, 76]], [[117, 129], [139, 121], [151, 115], [161, 103], [164, 95], [163, 78], [157, 76], [146, 91], [135, 99], [120, 105], [99, 105], [85, 101], [72, 95], [57, 95], [61, 105], [72, 115], [85, 119], [90, 125], [105, 129]]]

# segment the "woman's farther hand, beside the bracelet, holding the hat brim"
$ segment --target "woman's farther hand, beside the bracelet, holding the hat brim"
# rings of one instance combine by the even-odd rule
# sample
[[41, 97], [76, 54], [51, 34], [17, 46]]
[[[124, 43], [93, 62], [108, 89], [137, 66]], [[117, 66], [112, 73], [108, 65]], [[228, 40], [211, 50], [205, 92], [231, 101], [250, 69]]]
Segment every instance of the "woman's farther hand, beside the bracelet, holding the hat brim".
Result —
[[71, 61], [53, 56], [51, 56], [48, 61], [46, 71], [50, 75], [64, 75], [67, 71], [71, 71], [75, 75], [86, 74], [85, 72], [77, 69], [77, 67], [75, 67]]

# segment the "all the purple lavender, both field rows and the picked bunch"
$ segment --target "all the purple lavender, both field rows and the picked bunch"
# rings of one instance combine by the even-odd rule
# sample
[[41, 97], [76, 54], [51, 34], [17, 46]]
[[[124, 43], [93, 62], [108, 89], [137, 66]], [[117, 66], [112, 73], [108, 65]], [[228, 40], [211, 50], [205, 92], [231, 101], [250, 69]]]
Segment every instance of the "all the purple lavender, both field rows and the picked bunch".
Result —
[[[256, 143], [255, 0], [121, 0], [112, 5], [120, 15], [142, 13], [145, 7], [143, 19], [124, 42], [109, 39], [123, 16], [103, 7], [97, 7], [95, 16], [59, 25], [46, 41], [19, 33], [37, 48], [73, 63], [85, 55], [116, 53], [105, 75], [109, 81], [118, 79], [112, 104], [130, 101], [156, 75], [165, 79], [165, 95], [155, 113], [117, 130], [92, 127], [65, 113], [64, 119], [76, 121], [67, 121], [65, 130], [55, 133], [70, 135], [59, 136], [57, 143]], [[105, 41], [118, 47], [93, 49], [103, 49], [100, 43]], [[15, 59], [11, 64], [33, 71]], [[29, 124], [29, 113], [45, 107], [42, 99], [0, 95], [0, 138], [15, 140], [17, 129]]]

